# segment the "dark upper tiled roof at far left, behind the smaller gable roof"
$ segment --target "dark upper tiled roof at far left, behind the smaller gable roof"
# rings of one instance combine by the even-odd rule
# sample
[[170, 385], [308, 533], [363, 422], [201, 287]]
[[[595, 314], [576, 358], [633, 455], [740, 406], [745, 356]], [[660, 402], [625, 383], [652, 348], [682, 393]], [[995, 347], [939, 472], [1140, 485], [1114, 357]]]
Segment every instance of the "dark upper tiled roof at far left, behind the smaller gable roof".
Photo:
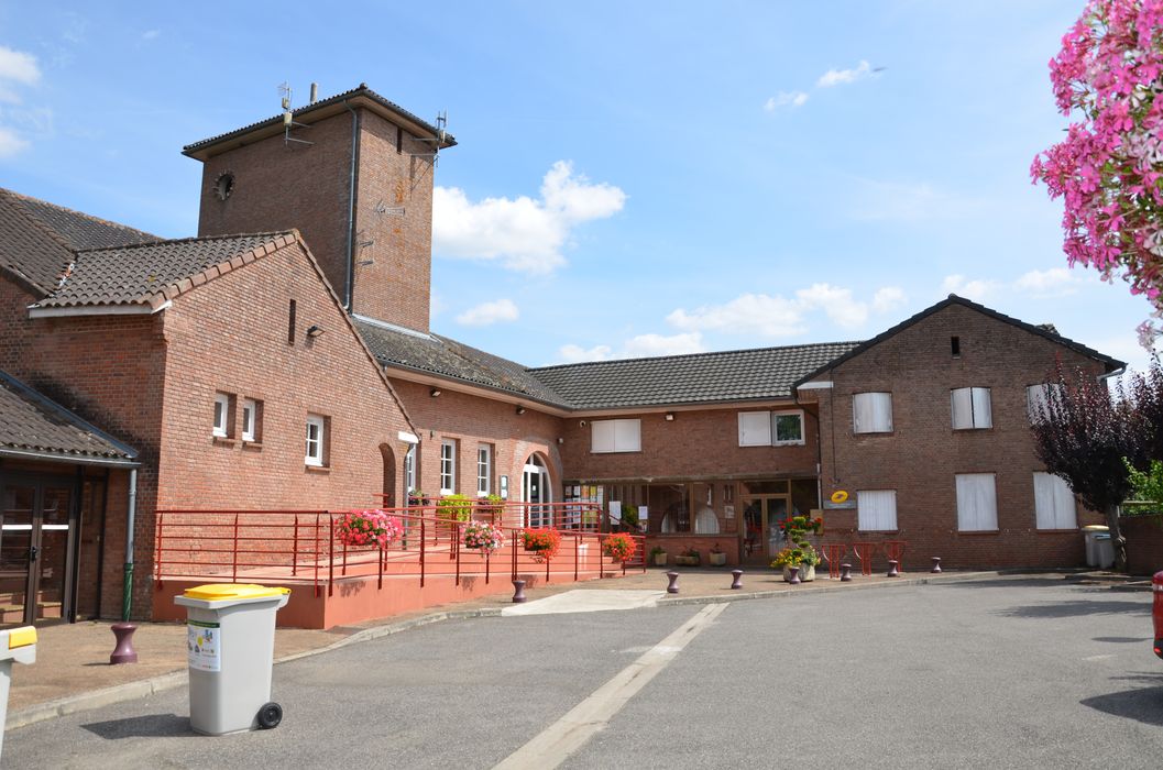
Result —
[[0, 188], [0, 268], [48, 293], [71, 251], [157, 241], [157, 236]]

